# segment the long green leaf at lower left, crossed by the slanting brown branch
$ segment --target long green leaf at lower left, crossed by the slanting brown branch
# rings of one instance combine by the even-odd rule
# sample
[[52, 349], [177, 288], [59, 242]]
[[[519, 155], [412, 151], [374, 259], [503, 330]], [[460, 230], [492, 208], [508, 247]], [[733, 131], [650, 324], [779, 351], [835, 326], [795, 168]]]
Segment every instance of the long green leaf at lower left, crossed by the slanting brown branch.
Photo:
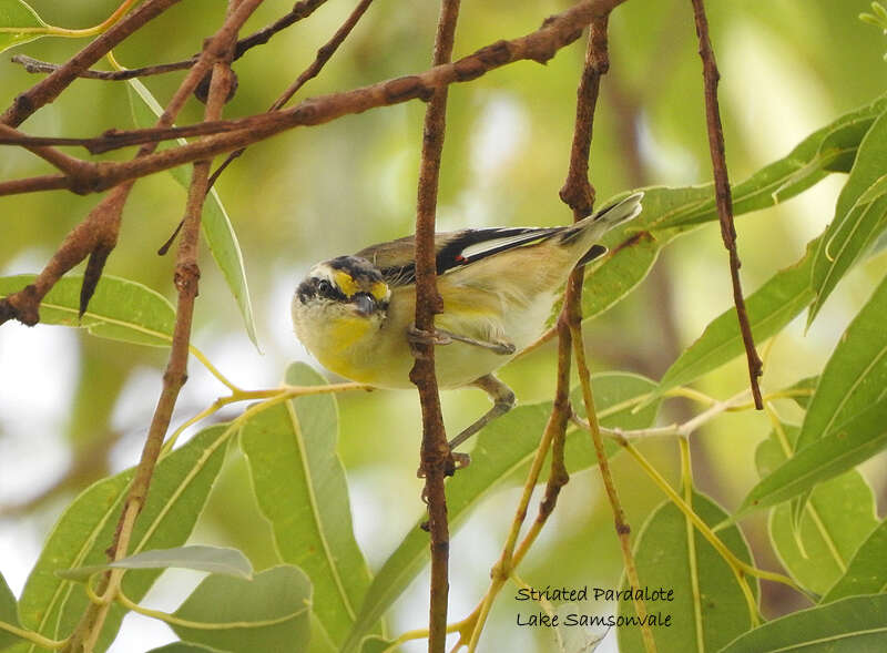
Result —
[[[131, 539], [133, 554], [179, 547], [194, 529], [225, 456], [231, 428], [214, 426], [163, 458]], [[80, 584], [57, 575], [60, 570], [105, 562], [133, 470], [86, 488], [59, 519], [22, 592], [22, 624], [52, 639], [68, 636], [89, 603]], [[160, 571], [129, 572], [123, 591], [133, 601], [147, 592]], [[120, 628], [124, 611], [114, 605], [96, 651], [104, 651]], [[26, 649], [33, 652], [34, 649]]]

